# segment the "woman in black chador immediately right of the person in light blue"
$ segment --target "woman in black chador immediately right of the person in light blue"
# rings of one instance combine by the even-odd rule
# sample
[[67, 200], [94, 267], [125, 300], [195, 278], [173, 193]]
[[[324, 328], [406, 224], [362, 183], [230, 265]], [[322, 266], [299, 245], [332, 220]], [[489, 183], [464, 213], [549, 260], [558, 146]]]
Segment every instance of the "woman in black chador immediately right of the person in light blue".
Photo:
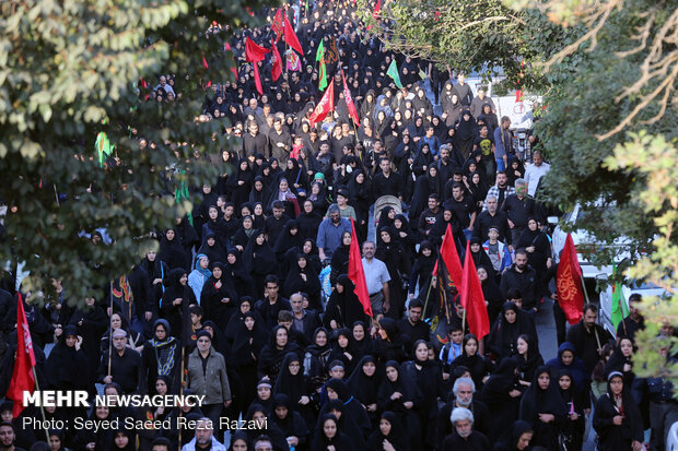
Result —
[[236, 300], [237, 292], [231, 277], [226, 276], [223, 263], [214, 262], [212, 275], [204, 282], [200, 296], [202, 317], [214, 321], [219, 330], [225, 331], [231, 316], [237, 311]]

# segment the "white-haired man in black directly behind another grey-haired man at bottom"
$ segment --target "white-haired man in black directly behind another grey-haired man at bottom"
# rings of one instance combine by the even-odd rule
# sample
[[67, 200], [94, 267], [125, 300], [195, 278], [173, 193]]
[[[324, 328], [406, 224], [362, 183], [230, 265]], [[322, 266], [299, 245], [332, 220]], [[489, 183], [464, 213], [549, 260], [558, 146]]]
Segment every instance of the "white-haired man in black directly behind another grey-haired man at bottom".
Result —
[[454, 382], [448, 401], [437, 416], [437, 449], [443, 449], [445, 437], [453, 432], [454, 425], [449, 422], [449, 415], [456, 408], [469, 410], [475, 418], [474, 429], [482, 434], [487, 432], [488, 406], [482, 401], [474, 399], [475, 392], [476, 383], [471, 378], [459, 378]]

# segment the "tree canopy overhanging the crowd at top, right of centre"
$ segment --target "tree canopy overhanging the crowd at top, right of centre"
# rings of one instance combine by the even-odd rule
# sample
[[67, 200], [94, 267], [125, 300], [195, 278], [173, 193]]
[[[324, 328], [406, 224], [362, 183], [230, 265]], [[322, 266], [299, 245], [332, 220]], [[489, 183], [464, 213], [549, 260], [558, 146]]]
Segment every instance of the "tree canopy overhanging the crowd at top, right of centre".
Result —
[[576, 33], [536, 9], [516, 11], [501, 0], [394, 0], [376, 17], [365, 0], [361, 3], [362, 19], [375, 27], [386, 48], [477, 71], [488, 80], [503, 73], [510, 86], [523, 88], [543, 85], [536, 63]]

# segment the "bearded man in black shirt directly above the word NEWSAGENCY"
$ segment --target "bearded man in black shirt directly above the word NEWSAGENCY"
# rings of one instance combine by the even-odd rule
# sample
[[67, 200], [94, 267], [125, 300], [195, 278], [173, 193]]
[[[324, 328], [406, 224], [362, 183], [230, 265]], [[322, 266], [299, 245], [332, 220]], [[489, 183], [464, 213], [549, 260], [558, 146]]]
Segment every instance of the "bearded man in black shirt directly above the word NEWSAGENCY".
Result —
[[116, 329], [113, 332], [113, 347], [115, 351], [110, 357], [110, 376], [107, 376], [108, 349], [106, 349], [98, 366], [98, 382], [116, 382], [120, 385], [122, 393], [135, 393], [139, 384], [141, 355], [127, 347], [127, 332], [122, 329]]

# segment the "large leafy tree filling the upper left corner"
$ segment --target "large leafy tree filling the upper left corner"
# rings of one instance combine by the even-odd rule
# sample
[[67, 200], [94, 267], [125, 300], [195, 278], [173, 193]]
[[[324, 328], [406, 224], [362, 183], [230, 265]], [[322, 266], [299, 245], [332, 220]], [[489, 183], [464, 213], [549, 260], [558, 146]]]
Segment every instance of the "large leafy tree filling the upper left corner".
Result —
[[[178, 186], [212, 181], [204, 155], [227, 145], [197, 120], [207, 80], [229, 76], [227, 29], [255, 24], [258, 1], [13, 0], [0, 16], [0, 198], [8, 204], [2, 261], [25, 262], [36, 293], [62, 280], [71, 300], [98, 295], [138, 261], [143, 237], [190, 209]], [[204, 68], [202, 55], [214, 55]], [[176, 74], [173, 104], [144, 102]], [[144, 87], [143, 82], [148, 81]], [[104, 131], [115, 164], [94, 149]], [[140, 145], [140, 138], [149, 145]], [[87, 239], [105, 229], [110, 245]]]

